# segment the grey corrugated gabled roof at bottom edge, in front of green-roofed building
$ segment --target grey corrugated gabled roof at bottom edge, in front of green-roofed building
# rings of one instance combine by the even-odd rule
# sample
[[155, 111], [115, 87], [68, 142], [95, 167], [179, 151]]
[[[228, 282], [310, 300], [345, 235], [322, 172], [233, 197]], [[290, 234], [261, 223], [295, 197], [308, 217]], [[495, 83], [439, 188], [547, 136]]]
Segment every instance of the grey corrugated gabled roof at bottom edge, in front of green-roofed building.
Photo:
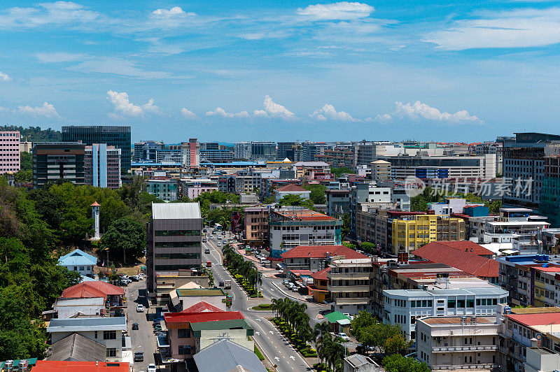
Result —
[[[224, 372], [242, 366], [253, 372], [267, 372], [253, 350], [222, 340], [197, 352], [194, 356], [199, 372]], [[216, 361], [220, 361], [216, 363]]]

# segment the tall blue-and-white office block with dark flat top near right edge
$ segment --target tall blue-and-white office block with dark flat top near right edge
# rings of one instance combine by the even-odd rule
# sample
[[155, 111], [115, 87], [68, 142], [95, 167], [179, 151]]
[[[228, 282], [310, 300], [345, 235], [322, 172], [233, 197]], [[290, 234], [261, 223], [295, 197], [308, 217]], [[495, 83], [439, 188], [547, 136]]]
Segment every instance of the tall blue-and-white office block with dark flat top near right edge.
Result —
[[[545, 147], [547, 141], [560, 141], [556, 134], [516, 133], [515, 141], [503, 143], [503, 176], [511, 187], [504, 194], [507, 206], [538, 208], [540, 187], [545, 174]], [[528, 191], [518, 192], [519, 187]], [[516, 189], [516, 187], [518, 187]]]

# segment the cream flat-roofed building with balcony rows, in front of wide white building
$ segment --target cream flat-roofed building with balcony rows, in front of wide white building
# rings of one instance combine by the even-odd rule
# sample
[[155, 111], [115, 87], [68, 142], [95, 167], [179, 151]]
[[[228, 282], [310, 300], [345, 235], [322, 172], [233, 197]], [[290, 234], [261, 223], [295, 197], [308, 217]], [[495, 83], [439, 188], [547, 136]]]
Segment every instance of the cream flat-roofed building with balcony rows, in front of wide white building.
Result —
[[423, 317], [416, 320], [416, 352], [432, 371], [498, 368], [496, 317]]

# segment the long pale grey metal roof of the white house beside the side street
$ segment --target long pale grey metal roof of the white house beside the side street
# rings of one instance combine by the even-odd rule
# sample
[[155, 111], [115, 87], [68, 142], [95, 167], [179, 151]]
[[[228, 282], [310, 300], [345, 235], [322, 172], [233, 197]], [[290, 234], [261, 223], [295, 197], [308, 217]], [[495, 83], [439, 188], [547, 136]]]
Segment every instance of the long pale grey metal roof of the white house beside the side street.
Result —
[[80, 331], [126, 331], [125, 317], [78, 317], [53, 319], [49, 322], [47, 332]]

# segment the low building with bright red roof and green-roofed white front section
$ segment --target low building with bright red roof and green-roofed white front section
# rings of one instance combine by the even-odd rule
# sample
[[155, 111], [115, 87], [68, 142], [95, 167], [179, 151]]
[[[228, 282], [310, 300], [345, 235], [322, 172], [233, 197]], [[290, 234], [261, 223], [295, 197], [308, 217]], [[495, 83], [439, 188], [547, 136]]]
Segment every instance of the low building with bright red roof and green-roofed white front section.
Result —
[[253, 329], [239, 311], [166, 313], [164, 320], [174, 359], [189, 359], [221, 340], [230, 340], [253, 350], [253, 341], [248, 338], [253, 336]]

